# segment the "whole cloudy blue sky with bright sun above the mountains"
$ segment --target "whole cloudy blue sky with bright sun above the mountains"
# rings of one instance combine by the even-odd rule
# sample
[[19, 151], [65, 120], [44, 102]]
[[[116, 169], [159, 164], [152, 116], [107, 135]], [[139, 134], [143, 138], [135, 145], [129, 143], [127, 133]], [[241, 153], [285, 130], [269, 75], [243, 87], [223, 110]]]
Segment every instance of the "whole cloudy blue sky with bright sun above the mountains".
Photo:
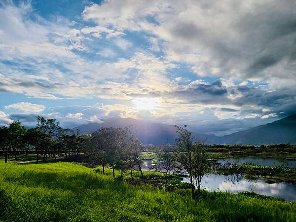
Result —
[[295, 0], [0, 1], [0, 125], [218, 136], [296, 113]]

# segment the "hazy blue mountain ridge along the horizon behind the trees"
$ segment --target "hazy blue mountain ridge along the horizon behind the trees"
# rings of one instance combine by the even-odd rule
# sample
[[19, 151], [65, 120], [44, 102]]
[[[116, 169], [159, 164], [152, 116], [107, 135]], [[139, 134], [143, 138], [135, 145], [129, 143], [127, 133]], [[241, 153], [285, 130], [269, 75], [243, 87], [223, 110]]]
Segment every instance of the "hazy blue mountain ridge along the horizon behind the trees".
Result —
[[[177, 128], [162, 123], [145, 122], [133, 118], [108, 118], [102, 123], [88, 123], [74, 129], [81, 134], [98, 130], [101, 127], [132, 126], [136, 136], [144, 144], [162, 145], [174, 144], [178, 134]], [[206, 140], [207, 144], [296, 144], [296, 114], [283, 119], [259, 125], [257, 127], [218, 137], [215, 135], [198, 134], [193, 132], [196, 141]]]

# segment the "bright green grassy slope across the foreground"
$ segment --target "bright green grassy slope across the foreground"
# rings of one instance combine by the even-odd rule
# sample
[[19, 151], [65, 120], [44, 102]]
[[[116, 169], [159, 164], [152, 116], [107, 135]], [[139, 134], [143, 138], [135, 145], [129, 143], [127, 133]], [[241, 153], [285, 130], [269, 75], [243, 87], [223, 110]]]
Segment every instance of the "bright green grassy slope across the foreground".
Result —
[[296, 202], [189, 190], [164, 193], [73, 163], [0, 162], [0, 221], [295, 221]]

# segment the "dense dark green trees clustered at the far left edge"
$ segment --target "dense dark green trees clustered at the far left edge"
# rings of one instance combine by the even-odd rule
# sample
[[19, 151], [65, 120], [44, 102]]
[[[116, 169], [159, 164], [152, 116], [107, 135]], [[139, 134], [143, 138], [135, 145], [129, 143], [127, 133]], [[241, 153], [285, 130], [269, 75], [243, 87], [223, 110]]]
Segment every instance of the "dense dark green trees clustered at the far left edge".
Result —
[[37, 126], [34, 128], [26, 129], [20, 121], [10, 123], [8, 127], [0, 127], [0, 149], [5, 155], [5, 163], [9, 153], [12, 153], [12, 158], [17, 159], [19, 150], [35, 150], [38, 163], [41, 154], [44, 162], [48, 157], [67, 157], [73, 152], [79, 155], [86, 148], [89, 137], [60, 127], [56, 119], [37, 116]]

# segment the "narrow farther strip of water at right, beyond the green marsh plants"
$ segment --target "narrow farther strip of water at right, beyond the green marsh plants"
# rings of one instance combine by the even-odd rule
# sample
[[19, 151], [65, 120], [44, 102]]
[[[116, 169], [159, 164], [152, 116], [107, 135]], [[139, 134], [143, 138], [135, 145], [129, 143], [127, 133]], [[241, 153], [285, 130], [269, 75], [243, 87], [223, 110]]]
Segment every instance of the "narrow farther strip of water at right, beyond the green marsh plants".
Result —
[[281, 160], [274, 158], [227, 158], [218, 159], [221, 164], [248, 164], [261, 166], [281, 166], [281, 167], [296, 167], [296, 160]]

